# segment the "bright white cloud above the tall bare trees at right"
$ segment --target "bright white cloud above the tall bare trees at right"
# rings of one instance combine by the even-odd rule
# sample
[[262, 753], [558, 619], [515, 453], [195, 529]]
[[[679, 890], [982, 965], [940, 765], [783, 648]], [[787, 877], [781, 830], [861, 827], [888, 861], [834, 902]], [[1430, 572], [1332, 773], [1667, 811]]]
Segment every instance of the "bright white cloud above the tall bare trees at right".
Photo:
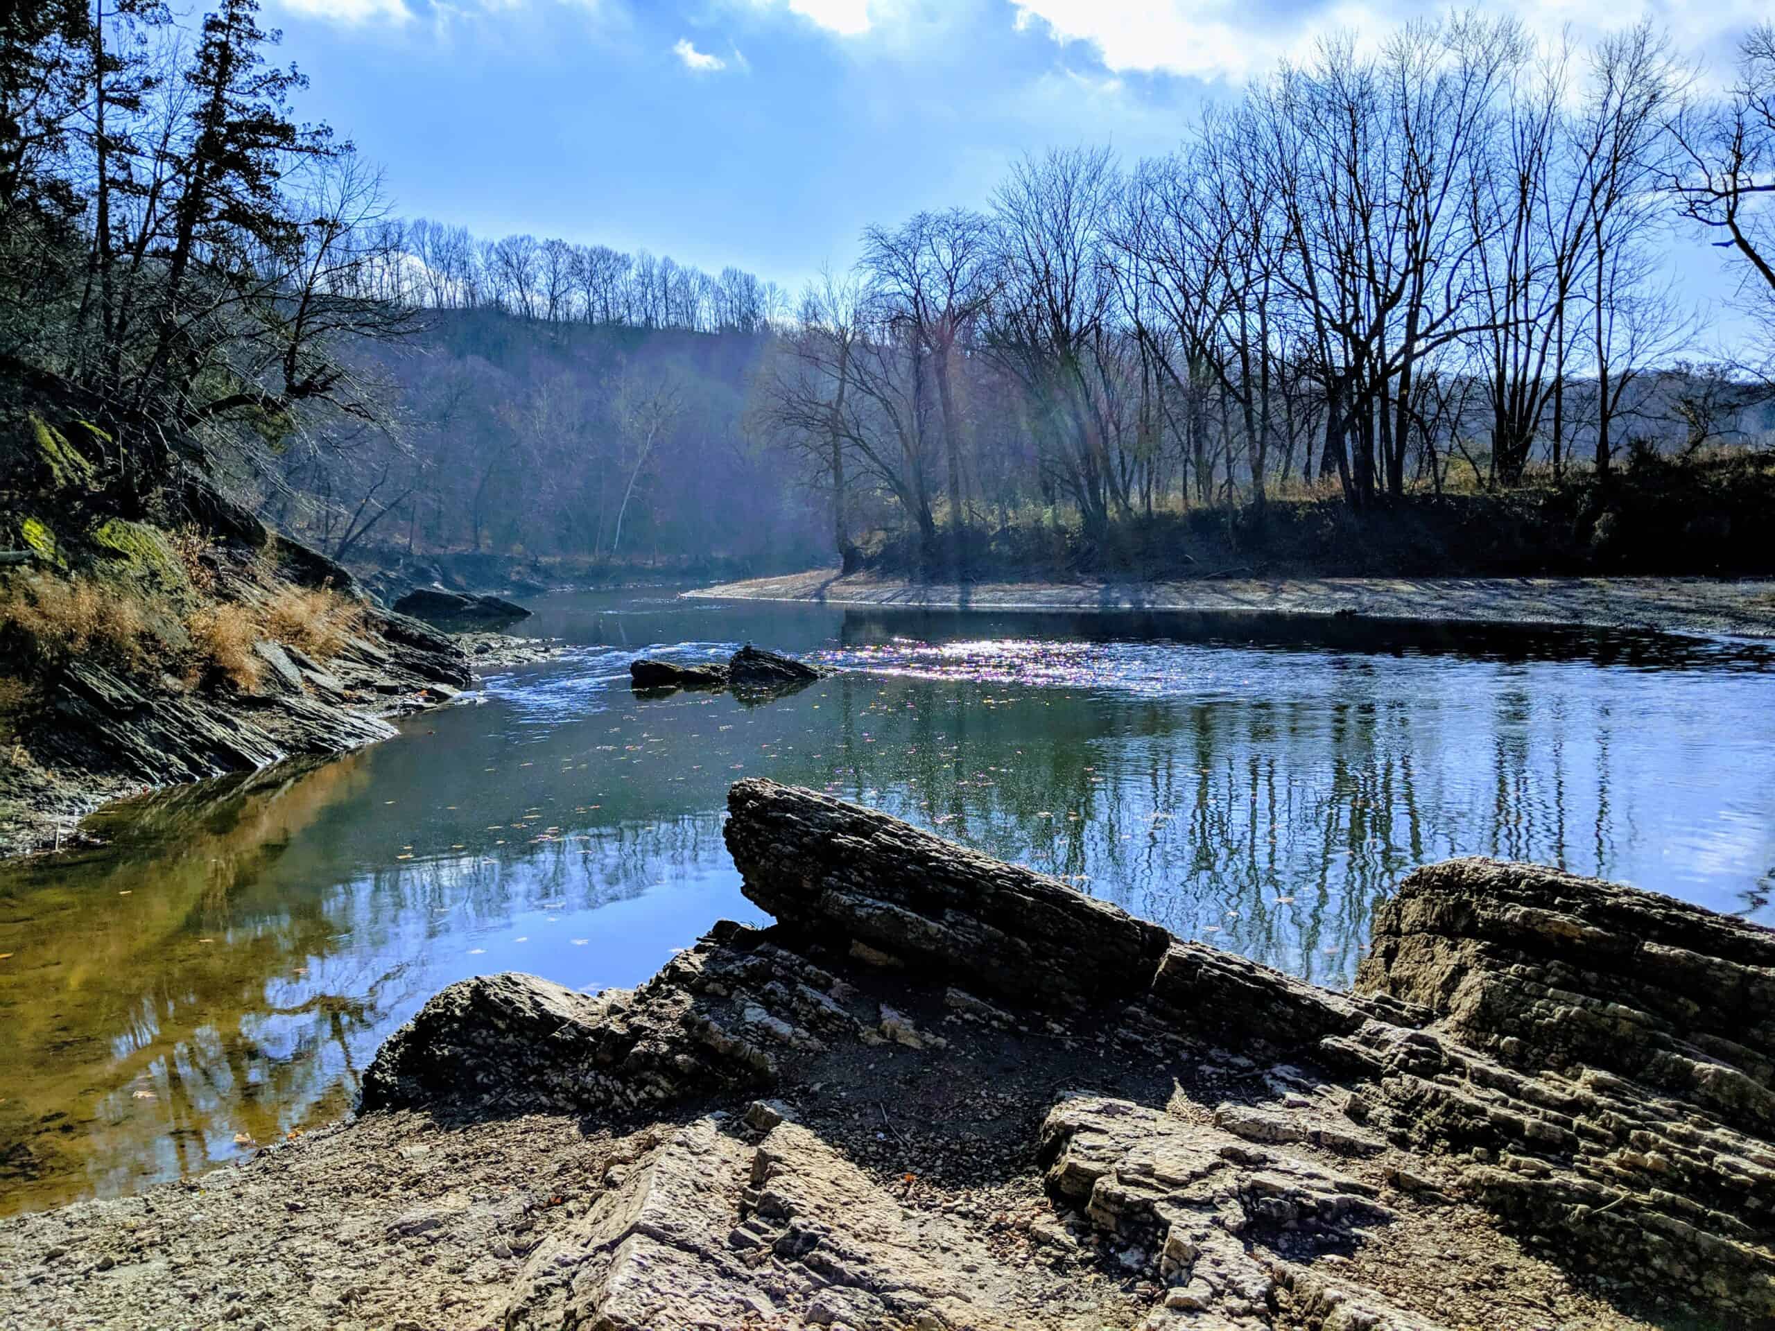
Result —
[[[1438, 18], [1432, 0], [1306, 0], [1269, 9], [1251, 0], [1010, 0], [1019, 32], [1040, 25], [1061, 46], [1085, 43], [1113, 73], [1168, 73], [1242, 82], [1282, 57], [1308, 55], [1326, 35], [1374, 39], [1413, 18]], [[1493, 0], [1537, 37], [1566, 25], [1580, 39], [1637, 23], [1647, 12], [1677, 44], [1702, 51], [1764, 18], [1764, 0]]]

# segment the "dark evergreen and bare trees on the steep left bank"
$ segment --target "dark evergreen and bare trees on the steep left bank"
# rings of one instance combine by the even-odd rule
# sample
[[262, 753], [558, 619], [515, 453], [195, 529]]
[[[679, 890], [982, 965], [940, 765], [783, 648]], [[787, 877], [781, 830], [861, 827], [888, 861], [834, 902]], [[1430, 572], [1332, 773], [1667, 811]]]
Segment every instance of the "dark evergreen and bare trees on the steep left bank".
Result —
[[376, 172], [270, 62], [256, 0], [195, 32], [160, 0], [48, 0], [0, 21], [0, 374], [75, 405], [92, 504], [151, 511], [387, 417], [355, 346], [412, 332], [380, 298]]

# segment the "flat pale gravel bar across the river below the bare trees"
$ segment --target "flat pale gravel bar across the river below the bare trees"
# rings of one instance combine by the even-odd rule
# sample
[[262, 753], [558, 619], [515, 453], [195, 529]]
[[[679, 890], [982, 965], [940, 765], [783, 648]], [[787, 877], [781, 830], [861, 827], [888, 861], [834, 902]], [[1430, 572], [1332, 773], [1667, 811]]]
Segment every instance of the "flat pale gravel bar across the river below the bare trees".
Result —
[[1349, 618], [1775, 637], [1775, 579], [1200, 579], [957, 586], [813, 570], [682, 595], [934, 610], [1145, 610], [1228, 619]]

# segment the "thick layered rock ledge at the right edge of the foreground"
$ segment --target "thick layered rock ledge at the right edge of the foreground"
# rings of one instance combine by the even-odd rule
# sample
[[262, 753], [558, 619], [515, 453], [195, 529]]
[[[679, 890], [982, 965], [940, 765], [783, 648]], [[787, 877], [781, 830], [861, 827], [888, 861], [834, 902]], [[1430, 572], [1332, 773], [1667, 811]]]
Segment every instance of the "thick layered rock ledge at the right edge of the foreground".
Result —
[[1356, 985], [1434, 1010], [1326, 1042], [1360, 1118], [1599, 1269], [1775, 1319], [1775, 935], [1466, 859], [1381, 907]]

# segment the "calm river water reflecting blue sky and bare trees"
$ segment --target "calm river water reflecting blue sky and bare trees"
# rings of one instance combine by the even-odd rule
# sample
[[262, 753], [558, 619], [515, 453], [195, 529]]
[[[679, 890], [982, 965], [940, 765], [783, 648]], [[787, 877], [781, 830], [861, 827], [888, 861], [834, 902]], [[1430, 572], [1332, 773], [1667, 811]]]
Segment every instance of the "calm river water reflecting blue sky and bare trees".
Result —
[[[1775, 923], [1766, 644], [1342, 619], [953, 614], [556, 595], [573, 650], [401, 738], [165, 792], [0, 866], [0, 1212], [199, 1171], [348, 1111], [426, 997], [634, 985], [740, 894], [769, 776], [1349, 983], [1415, 864], [1487, 854]], [[838, 674], [635, 696], [740, 642]]]

